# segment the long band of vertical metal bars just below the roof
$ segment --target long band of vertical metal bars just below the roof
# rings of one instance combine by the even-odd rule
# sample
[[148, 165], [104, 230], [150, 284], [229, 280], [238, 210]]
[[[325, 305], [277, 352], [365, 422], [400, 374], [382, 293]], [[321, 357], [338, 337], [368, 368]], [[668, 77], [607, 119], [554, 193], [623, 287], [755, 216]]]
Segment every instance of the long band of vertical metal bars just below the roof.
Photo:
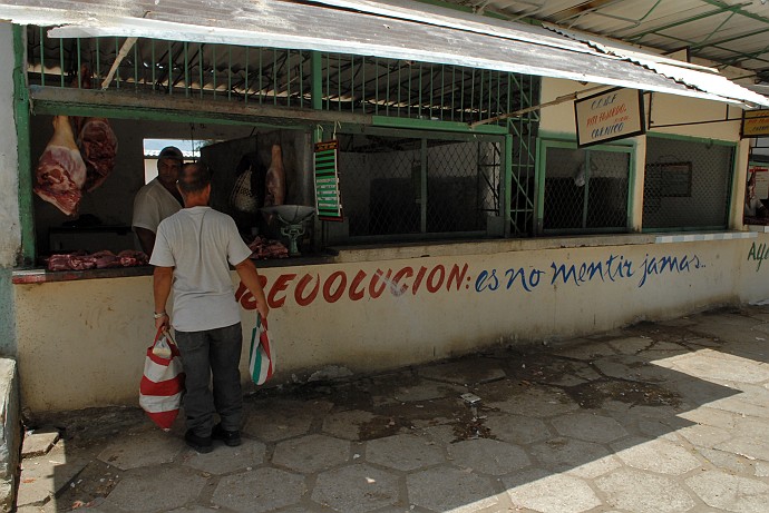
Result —
[[530, 107], [538, 88], [537, 77], [460, 66], [145, 38], [60, 39], [46, 30], [28, 28], [32, 85], [310, 109], [317, 80], [324, 110], [459, 122]]

